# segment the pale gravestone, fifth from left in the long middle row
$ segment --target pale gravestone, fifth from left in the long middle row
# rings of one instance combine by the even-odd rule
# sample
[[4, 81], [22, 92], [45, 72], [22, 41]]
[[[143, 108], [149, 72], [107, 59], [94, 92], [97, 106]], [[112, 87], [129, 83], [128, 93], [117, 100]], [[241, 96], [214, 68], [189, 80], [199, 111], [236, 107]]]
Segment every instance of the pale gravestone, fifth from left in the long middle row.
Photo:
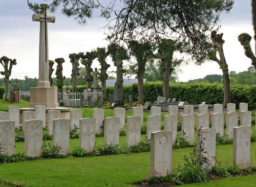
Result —
[[108, 117], [104, 121], [105, 145], [119, 145], [120, 120], [117, 117]]

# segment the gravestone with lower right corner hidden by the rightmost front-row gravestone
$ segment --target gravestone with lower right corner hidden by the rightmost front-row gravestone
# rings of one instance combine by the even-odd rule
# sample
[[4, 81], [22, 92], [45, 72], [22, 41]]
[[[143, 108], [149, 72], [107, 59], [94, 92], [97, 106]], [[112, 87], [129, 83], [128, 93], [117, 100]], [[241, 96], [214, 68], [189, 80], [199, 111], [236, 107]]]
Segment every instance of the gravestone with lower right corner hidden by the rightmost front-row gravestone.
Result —
[[238, 113], [227, 112], [226, 114], [226, 135], [228, 138], [233, 138], [233, 128], [238, 126]]

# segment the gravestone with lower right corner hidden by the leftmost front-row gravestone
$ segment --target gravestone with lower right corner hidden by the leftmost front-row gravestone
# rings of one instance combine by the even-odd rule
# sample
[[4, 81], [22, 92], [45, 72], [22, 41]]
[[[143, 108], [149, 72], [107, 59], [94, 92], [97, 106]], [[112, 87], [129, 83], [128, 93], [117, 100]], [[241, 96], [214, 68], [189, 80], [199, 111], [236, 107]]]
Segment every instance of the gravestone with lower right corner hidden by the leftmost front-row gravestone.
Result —
[[158, 115], [148, 115], [146, 119], [146, 138], [151, 138], [151, 133], [161, 130], [161, 117]]

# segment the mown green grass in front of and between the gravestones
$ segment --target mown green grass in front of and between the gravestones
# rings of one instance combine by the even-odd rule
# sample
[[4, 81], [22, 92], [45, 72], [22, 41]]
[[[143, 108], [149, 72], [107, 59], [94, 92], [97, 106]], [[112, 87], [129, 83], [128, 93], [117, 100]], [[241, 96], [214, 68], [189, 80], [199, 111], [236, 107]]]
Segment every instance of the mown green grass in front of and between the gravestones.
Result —
[[[10, 104], [2, 101], [0, 103], [0, 111], [7, 111]], [[27, 105], [28, 103], [23, 101], [18, 106], [27, 107]], [[82, 118], [92, 117], [92, 109], [82, 108], [82, 110]], [[113, 116], [113, 109], [105, 109], [104, 112], [105, 117]], [[254, 112], [252, 113], [254, 115]], [[162, 125], [165, 114], [161, 113]], [[131, 115], [131, 110], [125, 111], [125, 118]], [[148, 115], [150, 112], [144, 112], [144, 122]], [[254, 126], [252, 128], [254, 129]], [[125, 135], [120, 136], [120, 147], [124, 147], [125, 138]], [[142, 134], [141, 140], [144, 138], [145, 134]], [[96, 137], [96, 145], [104, 145], [104, 138]], [[24, 153], [24, 142], [15, 142], [15, 146], [15, 153]], [[70, 152], [75, 146], [79, 146], [79, 139], [70, 139]], [[193, 149], [174, 149], [173, 168], [184, 163], [184, 155], [189, 155]], [[250, 156], [252, 167], [256, 167], [255, 150], [256, 143], [253, 142]], [[218, 145], [217, 159], [222, 165], [232, 164], [232, 144]], [[33, 161], [1, 163], [0, 186], [135, 186], [134, 182], [142, 181], [150, 172], [150, 162], [150, 152], [144, 152], [94, 157], [67, 156], [57, 159], [42, 158]], [[255, 174], [236, 176], [181, 186], [255, 186], [255, 177]]]

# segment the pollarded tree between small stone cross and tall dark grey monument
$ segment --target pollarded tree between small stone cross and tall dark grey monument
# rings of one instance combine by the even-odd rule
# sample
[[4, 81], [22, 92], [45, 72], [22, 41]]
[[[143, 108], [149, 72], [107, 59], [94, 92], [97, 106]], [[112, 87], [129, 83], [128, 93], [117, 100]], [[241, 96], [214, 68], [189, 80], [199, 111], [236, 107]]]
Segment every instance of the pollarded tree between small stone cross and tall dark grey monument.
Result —
[[105, 48], [97, 48], [97, 56], [98, 56], [98, 61], [100, 64], [100, 73], [99, 73], [99, 80], [101, 81], [101, 86], [102, 86], [102, 99], [103, 101], [106, 100], [106, 79], [108, 79], [108, 74], [106, 71], [110, 67], [110, 64], [106, 63], [106, 57], [109, 56], [109, 52], [106, 52]]

